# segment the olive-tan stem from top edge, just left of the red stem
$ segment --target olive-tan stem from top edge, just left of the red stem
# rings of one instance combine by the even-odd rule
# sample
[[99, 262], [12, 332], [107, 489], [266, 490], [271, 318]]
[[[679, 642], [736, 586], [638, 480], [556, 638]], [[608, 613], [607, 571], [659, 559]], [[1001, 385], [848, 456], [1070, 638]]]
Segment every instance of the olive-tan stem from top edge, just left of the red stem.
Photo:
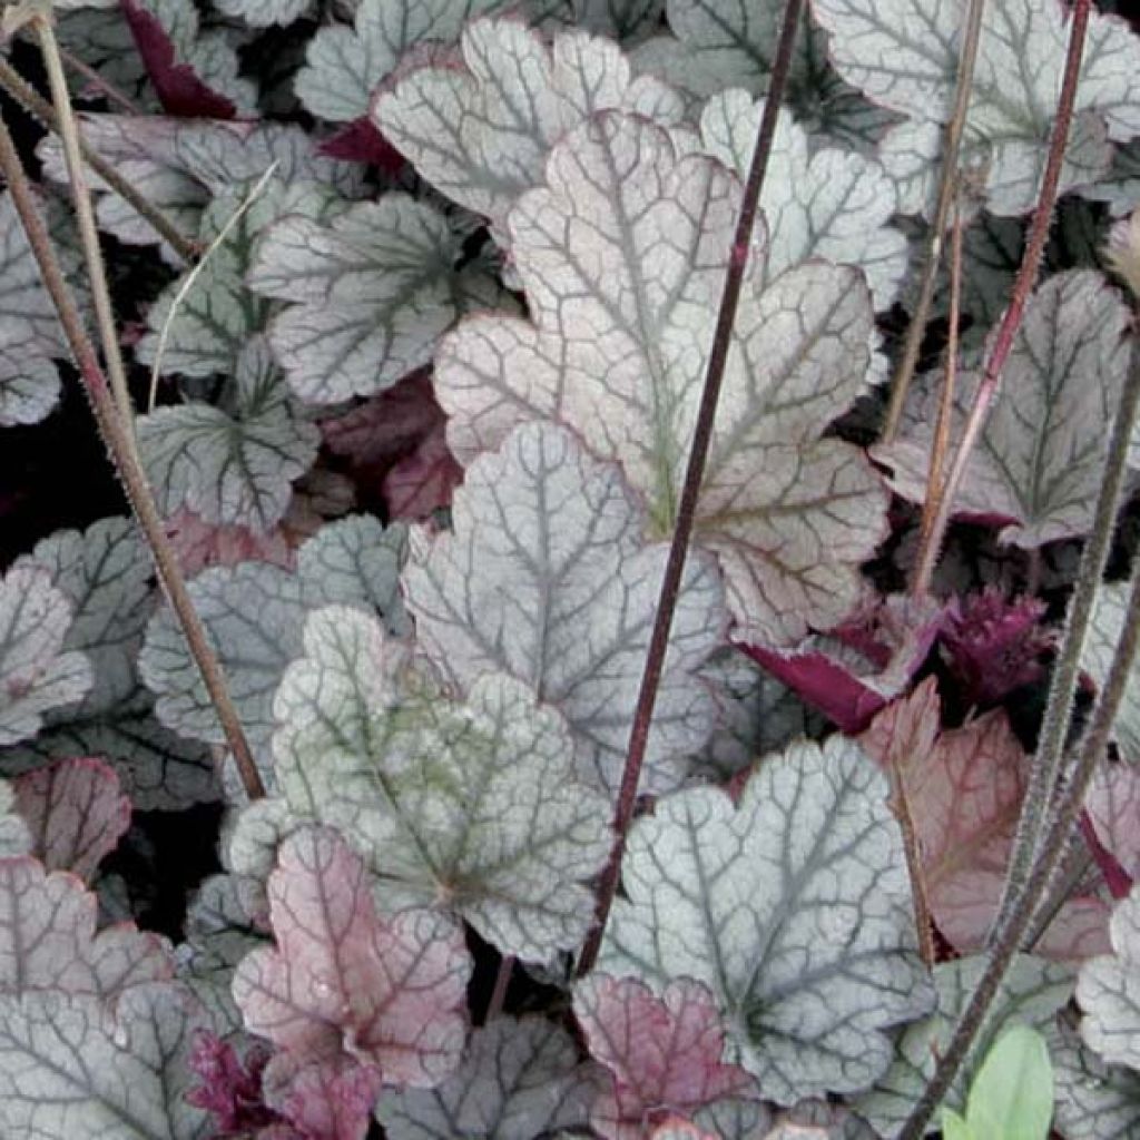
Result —
[[919, 349], [926, 333], [927, 317], [934, 301], [934, 286], [938, 278], [938, 262], [942, 260], [942, 241], [950, 218], [950, 206], [954, 201], [958, 184], [958, 155], [962, 146], [962, 132], [966, 129], [966, 112], [970, 106], [970, 88], [974, 85], [974, 64], [978, 57], [978, 40], [982, 35], [982, 13], [985, 0], [970, 0], [966, 11], [966, 25], [962, 31], [962, 46], [958, 52], [958, 78], [954, 81], [954, 109], [942, 144], [942, 171], [938, 176], [938, 199], [935, 204], [934, 221], [930, 223], [930, 242], [927, 247], [927, 259], [922, 267], [922, 280], [919, 284], [919, 299], [914, 306], [914, 315], [906, 328], [906, 340], [903, 343], [903, 357], [895, 370], [890, 385], [890, 402], [887, 405], [887, 418], [882, 426], [882, 442], [894, 442], [898, 434], [898, 424], [903, 418], [903, 405], [906, 392], [914, 377], [914, 368], [919, 363]]

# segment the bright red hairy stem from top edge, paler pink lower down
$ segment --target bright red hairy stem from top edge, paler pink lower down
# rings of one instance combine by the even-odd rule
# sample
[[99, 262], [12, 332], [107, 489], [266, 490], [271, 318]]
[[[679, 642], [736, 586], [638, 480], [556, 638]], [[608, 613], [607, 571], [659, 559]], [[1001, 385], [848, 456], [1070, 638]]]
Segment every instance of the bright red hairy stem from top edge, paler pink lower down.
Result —
[[[938, 500], [938, 510], [935, 514], [931, 527], [928, 547], [936, 552], [942, 549], [942, 542], [946, 534], [946, 526], [954, 507], [954, 498], [958, 488], [961, 486], [962, 475], [966, 473], [966, 464], [969, 462], [970, 453], [974, 450], [982, 430], [985, 426], [990, 406], [997, 394], [997, 385], [1001, 380], [1002, 368], [1005, 367], [1005, 359], [1013, 347], [1013, 339], [1021, 326], [1021, 316], [1025, 306], [1037, 282], [1037, 270], [1041, 268], [1041, 258], [1044, 253], [1045, 241], [1049, 237], [1050, 220], [1052, 219], [1053, 206], [1057, 203], [1057, 187], [1060, 181], [1061, 165], [1065, 161], [1065, 146], [1068, 142], [1069, 128], [1073, 123], [1073, 108], [1076, 101], [1077, 83], [1081, 75], [1081, 56], [1084, 51], [1085, 31], [1089, 26], [1089, 6], [1091, 0], [1076, 0], [1073, 6], [1073, 14], [1069, 24], [1068, 54], [1065, 59], [1065, 75], [1061, 80], [1061, 90], [1057, 99], [1057, 115], [1053, 120], [1052, 135], [1049, 139], [1049, 154], [1045, 160], [1045, 170], [1041, 180], [1041, 192], [1037, 195], [1037, 205], [1033, 211], [1033, 220], [1029, 223], [1029, 233], [1026, 237], [1025, 253], [1021, 256], [1021, 264], [1018, 268], [1017, 280], [1013, 283], [1013, 292], [1010, 296], [1009, 307], [1002, 317], [997, 334], [990, 350], [986, 360], [985, 372], [978, 384], [978, 390], [974, 396], [974, 404], [970, 407], [966, 427], [962, 431], [962, 439], [954, 454], [954, 462], [951, 465], [950, 474], [946, 478], [946, 486]], [[919, 552], [919, 563], [928, 556], [926, 551]]]

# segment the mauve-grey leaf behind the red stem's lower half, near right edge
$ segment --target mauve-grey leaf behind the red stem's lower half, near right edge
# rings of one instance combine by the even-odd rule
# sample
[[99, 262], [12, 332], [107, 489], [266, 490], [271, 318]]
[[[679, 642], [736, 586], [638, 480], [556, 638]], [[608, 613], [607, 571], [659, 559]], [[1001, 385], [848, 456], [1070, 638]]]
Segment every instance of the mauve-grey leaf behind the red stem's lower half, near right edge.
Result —
[[[1035, 548], [1092, 526], [1105, 449], [1127, 368], [1129, 310], [1100, 274], [1050, 277], [1029, 300], [990, 413], [955, 500], [955, 512], [997, 518], [1001, 540]], [[978, 376], [963, 377], [960, 433]], [[891, 486], [926, 497], [935, 388], [903, 438], [878, 447]]]

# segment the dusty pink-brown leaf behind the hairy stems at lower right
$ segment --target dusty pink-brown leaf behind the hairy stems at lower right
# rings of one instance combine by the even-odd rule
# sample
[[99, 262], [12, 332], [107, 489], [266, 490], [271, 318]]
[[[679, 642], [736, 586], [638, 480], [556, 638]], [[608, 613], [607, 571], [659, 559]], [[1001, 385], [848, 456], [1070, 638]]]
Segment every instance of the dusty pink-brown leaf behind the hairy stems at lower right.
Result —
[[[956, 951], [985, 946], [1025, 795], [1028, 757], [1001, 710], [938, 733], [934, 678], [876, 717], [860, 742], [901, 774], [938, 929]], [[1070, 898], [1037, 953], [1078, 959], [1107, 945], [1107, 909]]]

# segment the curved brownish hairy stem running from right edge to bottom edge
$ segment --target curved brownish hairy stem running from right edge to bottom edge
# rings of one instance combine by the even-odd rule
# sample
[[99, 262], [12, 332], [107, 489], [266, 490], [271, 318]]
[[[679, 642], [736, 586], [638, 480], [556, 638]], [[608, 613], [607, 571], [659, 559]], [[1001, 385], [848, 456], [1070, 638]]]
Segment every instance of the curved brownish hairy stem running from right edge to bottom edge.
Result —
[[1124, 689], [1129, 683], [1129, 674], [1135, 659], [1138, 642], [1140, 642], [1140, 572], [1134, 570], [1132, 588], [1129, 594], [1127, 617], [1124, 621], [1119, 644], [1113, 654], [1113, 663], [1109, 667], [1100, 701], [1093, 712], [1092, 725], [1081, 747], [1081, 755], [1073, 771], [1072, 780], [1060, 796], [1050, 820], [1042, 844], [1041, 857], [1033, 868], [1025, 890], [1017, 899], [1001, 940], [990, 952], [986, 969], [978, 980], [969, 1004], [954, 1027], [950, 1043], [938, 1060], [934, 1077], [903, 1124], [898, 1140], [922, 1140], [930, 1117], [958, 1076], [970, 1045], [990, 1011], [997, 987], [1005, 977], [1010, 963], [1029, 930], [1029, 923], [1037, 912], [1042, 895], [1068, 849], [1067, 839], [1073, 832], [1073, 825], [1081, 812], [1089, 784], [1092, 782], [1097, 766], [1104, 759], [1108, 738], [1113, 731], [1113, 722], [1116, 719], [1117, 709], [1124, 697]]

